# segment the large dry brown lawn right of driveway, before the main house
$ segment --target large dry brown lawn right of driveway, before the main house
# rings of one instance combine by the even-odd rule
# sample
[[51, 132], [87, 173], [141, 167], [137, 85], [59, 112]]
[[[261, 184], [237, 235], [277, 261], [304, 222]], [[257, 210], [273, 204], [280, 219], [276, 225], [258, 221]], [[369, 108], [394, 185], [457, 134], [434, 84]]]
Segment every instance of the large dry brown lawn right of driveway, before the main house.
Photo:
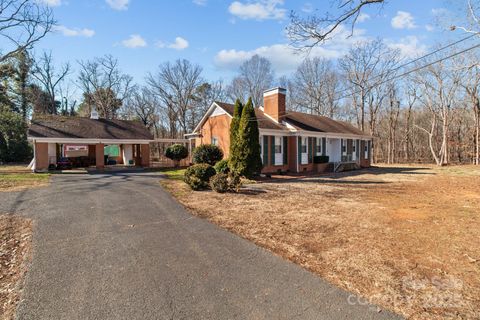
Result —
[[193, 214], [407, 318], [480, 319], [480, 168], [274, 177], [240, 194], [163, 184]]

